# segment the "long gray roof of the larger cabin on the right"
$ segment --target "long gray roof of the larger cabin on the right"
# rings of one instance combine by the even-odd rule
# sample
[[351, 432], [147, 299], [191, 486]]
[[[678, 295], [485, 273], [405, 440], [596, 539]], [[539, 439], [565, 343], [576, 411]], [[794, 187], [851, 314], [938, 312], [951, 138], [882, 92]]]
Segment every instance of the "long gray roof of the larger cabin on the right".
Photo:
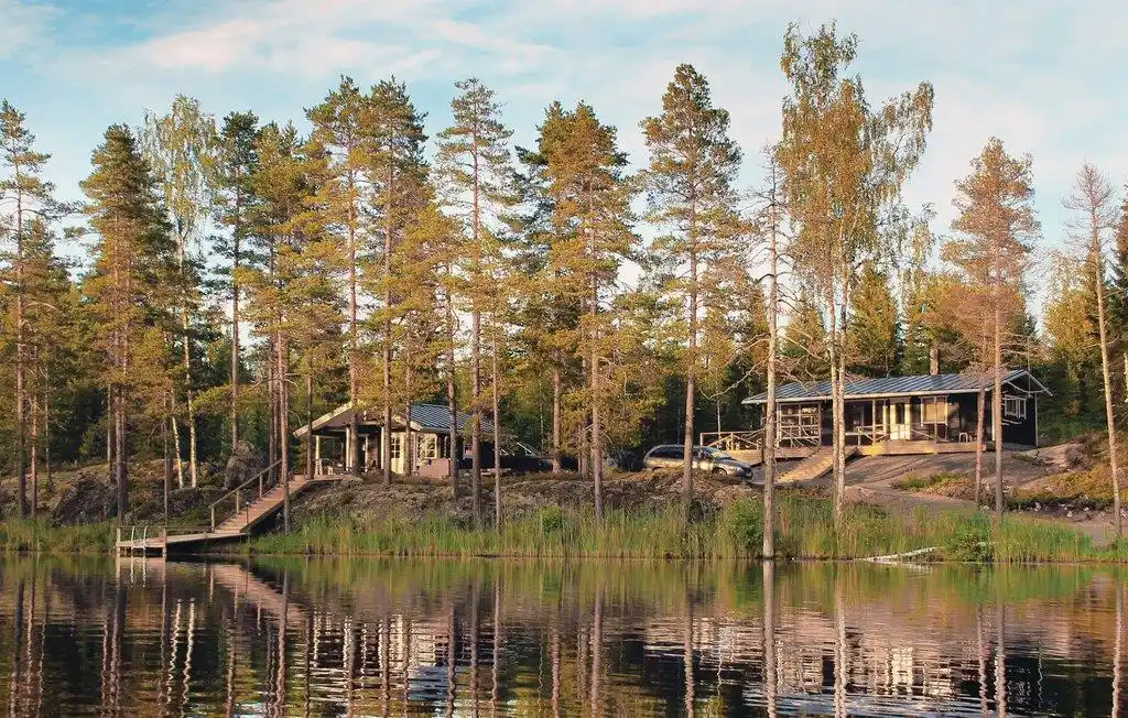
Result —
[[[1049, 393], [1029, 371], [1024, 369], [1007, 370], [1003, 375], [1003, 383], [1013, 383], [1025, 378], [1029, 382], [1031, 393]], [[975, 393], [979, 391], [982, 382], [987, 382], [987, 391], [990, 392], [994, 383], [994, 374], [988, 372], [967, 374], [919, 374], [916, 376], [881, 376], [878, 379], [848, 379], [846, 380], [846, 398], [848, 399], [876, 399], [882, 397], [905, 397], [905, 396], [938, 396], [950, 393]], [[764, 404], [767, 401], [767, 392], [761, 392], [755, 397], [748, 397], [743, 404]], [[776, 401], [813, 401], [830, 400], [829, 381], [792, 382], [784, 384], [776, 390]]]

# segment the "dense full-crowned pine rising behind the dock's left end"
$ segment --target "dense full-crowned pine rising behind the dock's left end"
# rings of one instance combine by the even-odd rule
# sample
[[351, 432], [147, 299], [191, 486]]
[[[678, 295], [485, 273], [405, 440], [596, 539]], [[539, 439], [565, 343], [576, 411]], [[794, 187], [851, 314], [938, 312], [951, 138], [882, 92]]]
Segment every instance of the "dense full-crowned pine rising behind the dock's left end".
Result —
[[133, 358], [144, 328], [167, 319], [175, 287], [176, 246], [166, 221], [157, 181], [133, 133], [123, 125], [106, 130], [92, 157], [94, 171], [82, 183], [86, 213], [96, 232], [94, 271], [86, 278], [97, 347], [108, 384], [109, 434], [117, 517], [129, 509], [130, 406], [146, 366]]

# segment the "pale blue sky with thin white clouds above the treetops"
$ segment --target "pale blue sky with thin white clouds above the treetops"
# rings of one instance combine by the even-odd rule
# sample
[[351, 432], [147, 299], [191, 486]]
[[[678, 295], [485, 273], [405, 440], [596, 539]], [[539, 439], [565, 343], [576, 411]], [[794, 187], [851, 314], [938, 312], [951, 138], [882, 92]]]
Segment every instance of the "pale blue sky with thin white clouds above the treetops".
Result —
[[135, 126], [179, 92], [219, 117], [254, 109], [303, 127], [341, 74], [405, 81], [432, 135], [449, 122], [453, 83], [477, 77], [523, 145], [552, 100], [582, 99], [641, 166], [638, 122], [689, 62], [730, 110], [754, 186], [778, 135], [787, 24], [831, 20], [858, 36], [873, 101], [935, 87], [906, 198], [933, 206], [936, 232], [949, 231], [954, 180], [993, 135], [1033, 157], [1043, 249], [1066, 232], [1061, 198], [1083, 161], [1118, 188], [1128, 180], [1122, 0], [0, 0], [0, 97], [53, 154], [60, 194], [79, 198], [109, 124]]

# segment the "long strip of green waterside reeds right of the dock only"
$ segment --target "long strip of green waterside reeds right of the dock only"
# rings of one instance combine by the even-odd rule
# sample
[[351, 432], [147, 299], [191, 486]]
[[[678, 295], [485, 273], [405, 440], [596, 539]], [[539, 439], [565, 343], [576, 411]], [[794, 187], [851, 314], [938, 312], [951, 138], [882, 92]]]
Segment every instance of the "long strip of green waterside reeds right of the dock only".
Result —
[[[846, 529], [834, 531], [831, 503], [784, 496], [777, 551], [792, 559], [858, 559], [941, 547], [935, 559], [960, 561], [1123, 561], [1128, 550], [1096, 547], [1067, 526], [1017, 516], [996, 530], [992, 517], [971, 511], [892, 512], [852, 505]], [[547, 508], [509, 522], [501, 533], [447, 520], [335, 518], [312, 516], [297, 531], [255, 539], [239, 551], [263, 555], [409, 557], [610, 557], [758, 558], [759, 502], [739, 499], [682, 530], [673, 507], [614, 511], [600, 525], [585, 511]]]

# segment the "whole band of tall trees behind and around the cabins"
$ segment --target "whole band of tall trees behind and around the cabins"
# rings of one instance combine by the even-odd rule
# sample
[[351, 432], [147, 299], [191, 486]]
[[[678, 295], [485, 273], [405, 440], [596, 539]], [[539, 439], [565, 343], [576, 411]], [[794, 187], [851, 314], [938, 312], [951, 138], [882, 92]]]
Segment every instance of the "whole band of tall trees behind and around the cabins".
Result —
[[933, 88], [870, 97], [858, 51], [832, 24], [790, 27], [779, 134], [758, 148], [688, 64], [637, 126], [552, 101], [530, 147], [474, 78], [446, 127], [395, 78], [342, 77], [291, 122], [178, 95], [106, 128], [80, 203], [58, 200], [51, 148], [5, 100], [16, 511], [63, 466], [108, 464], [118, 515], [136, 462], [182, 488], [221, 484], [239, 452], [300, 472], [310, 417], [428, 401], [475, 417], [475, 453], [493, 416], [557, 467], [578, 456], [598, 513], [601, 458], [749, 428], [741, 400], [769, 365], [773, 385], [1029, 366], [1054, 392], [1045, 442], [1104, 431], [1128, 398], [1128, 197], [1078, 161], [1069, 237], [1043, 238], [1032, 158], [984, 138], [936, 227], [902, 194]]

